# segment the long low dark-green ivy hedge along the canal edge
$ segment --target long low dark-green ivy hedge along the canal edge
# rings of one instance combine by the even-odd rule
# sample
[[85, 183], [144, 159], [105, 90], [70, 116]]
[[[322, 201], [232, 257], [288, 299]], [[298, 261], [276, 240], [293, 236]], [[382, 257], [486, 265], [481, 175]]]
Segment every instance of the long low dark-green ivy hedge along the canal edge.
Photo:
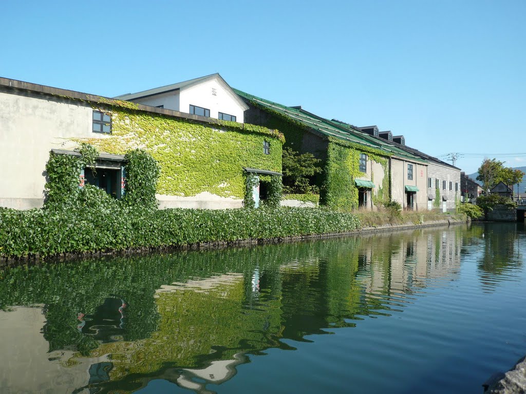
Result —
[[0, 209], [2, 257], [234, 242], [356, 230], [357, 217], [318, 209]]

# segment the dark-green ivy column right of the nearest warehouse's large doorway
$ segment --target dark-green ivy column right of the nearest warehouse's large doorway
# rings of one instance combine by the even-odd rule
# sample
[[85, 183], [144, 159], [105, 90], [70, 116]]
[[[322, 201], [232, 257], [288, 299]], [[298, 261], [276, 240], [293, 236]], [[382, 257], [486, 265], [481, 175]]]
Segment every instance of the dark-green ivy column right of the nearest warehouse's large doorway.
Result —
[[159, 179], [159, 165], [144, 150], [135, 149], [126, 153], [126, 193], [124, 203], [146, 209], [157, 208], [155, 191]]

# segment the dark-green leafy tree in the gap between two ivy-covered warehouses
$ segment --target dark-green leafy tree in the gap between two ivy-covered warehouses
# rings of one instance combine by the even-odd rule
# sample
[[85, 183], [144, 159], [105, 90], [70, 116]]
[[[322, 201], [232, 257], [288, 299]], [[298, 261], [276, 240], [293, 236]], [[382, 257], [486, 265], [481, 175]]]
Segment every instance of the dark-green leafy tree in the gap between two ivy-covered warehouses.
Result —
[[287, 193], [313, 193], [318, 188], [312, 178], [321, 172], [321, 160], [312, 153], [300, 154], [289, 147], [283, 150], [283, 185]]

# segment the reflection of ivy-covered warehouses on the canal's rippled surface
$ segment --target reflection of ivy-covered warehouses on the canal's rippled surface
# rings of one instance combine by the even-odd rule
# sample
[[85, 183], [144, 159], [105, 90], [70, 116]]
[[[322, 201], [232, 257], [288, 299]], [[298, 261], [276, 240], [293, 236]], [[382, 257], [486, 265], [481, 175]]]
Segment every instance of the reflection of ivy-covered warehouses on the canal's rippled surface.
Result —
[[134, 392], [164, 379], [214, 392], [252, 355], [403, 312], [457, 281], [464, 255], [481, 253], [481, 281], [499, 286], [521, 264], [517, 234], [458, 226], [5, 268], [0, 387]]

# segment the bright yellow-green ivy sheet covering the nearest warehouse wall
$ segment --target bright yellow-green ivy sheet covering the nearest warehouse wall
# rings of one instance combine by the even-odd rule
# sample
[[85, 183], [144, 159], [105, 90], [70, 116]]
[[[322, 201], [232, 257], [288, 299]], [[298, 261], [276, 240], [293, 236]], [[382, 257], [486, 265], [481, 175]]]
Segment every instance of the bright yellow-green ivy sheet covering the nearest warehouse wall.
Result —
[[[146, 150], [161, 168], [158, 194], [209, 192], [242, 199], [246, 190], [243, 167], [281, 172], [284, 138], [275, 130], [226, 121], [208, 125], [133, 108], [102, 110], [112, 115], [112, 134], [77, 141], [114, 154]], [[264, 141], [270, 142], [270, 154], [264, 153]]]

